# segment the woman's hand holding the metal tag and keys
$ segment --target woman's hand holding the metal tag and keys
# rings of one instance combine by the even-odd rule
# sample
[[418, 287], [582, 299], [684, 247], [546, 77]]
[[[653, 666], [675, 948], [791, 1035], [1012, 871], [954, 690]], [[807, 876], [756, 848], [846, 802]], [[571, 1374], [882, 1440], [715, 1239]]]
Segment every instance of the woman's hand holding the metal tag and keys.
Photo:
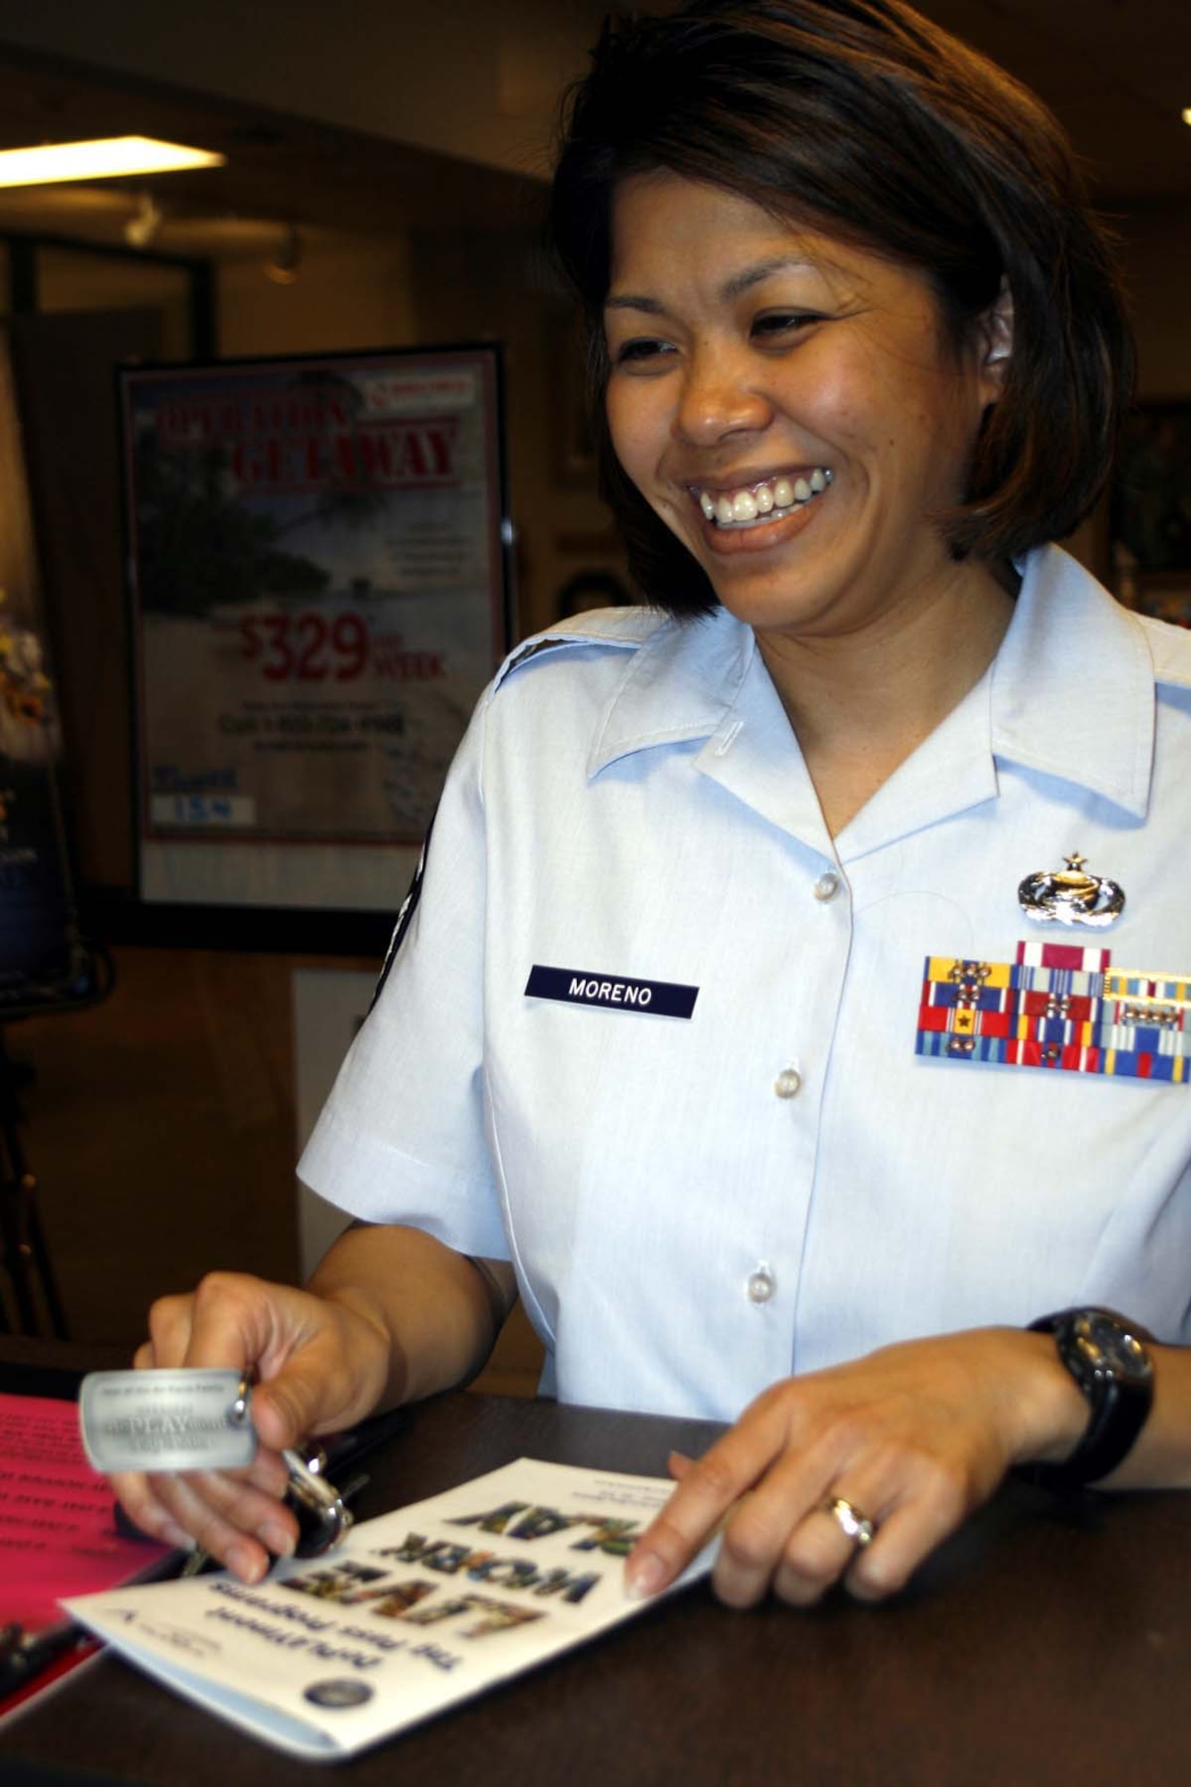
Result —
[[259, 1446], [247, 1471], [122, 1472], [113, 1489], [134, 1524], [172, 1546], [202, 1546], [241, 1581], [290, 1556], [297, 1521], [283, 1506], [281, 1453], [361, 1421], [388, 1383], [390, 1337], [365, 1297], [318, 1297], [241, 1272], [213, 1272], [148, 1312], [138, 1371], [179, 1365], [250, 1371]]

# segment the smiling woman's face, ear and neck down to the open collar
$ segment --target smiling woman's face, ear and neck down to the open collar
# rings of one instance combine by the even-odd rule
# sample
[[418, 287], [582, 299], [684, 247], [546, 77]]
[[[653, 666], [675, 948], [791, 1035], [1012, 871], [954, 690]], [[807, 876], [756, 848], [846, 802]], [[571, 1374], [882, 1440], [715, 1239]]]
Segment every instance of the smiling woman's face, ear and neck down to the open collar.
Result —
[[[612, 218], [612, 450], [755, 629], [839, 833], [1009, 625], [1012, 568], [957, 556], [941, 520], [1001, 395], [1012, 304], [957, 343], [923, 273], [669, 172], [628, 177]], [[864, 727], [849, 702], [842, 751], [824, 683], [840, 650], [853, 695], [914, 677]]]

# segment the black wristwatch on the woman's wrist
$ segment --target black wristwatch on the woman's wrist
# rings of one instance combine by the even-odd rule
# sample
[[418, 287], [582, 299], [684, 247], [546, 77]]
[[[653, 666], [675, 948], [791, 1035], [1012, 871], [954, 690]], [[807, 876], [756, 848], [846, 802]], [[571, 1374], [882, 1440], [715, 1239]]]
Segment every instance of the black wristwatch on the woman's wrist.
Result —
[[1062, 1464], [1026, 1465], [1025, 1476], [1044, 1489], [1096, 1483], [1125, 1458], [1153, 1401], [1153, 1362], [1145, 1342], [1152, 1333], [1116, 1310], [1059, 1310], [1030, 1322], [1052, 1333], [1059, 1358], [1087, 1397], [1084, 1437]]

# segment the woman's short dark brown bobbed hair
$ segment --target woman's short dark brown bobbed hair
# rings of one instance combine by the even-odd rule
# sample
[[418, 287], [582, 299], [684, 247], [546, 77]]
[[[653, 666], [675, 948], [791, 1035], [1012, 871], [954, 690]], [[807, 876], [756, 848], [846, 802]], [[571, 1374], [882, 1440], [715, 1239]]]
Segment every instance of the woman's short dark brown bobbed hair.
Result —
[[603, 416], [612, 197], [658, 170], [917, 270], [955, 347], [1005, 282], [1014, 350], [942, 534], [957, 558], [1003, 561], [1091, 511], [1134, 348], [1111, 239], [1050, 111], [901, 0], [687, 0], [604, 25], [565, 102], [547, 223], [587, 318], [601, 488], [647, 600], [717, 600]]

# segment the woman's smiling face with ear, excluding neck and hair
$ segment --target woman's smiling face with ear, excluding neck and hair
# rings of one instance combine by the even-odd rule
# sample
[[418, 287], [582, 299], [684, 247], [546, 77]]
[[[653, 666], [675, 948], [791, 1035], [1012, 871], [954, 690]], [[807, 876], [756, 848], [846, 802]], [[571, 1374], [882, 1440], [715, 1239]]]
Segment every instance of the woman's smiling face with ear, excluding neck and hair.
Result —
[[728, 609], [801, 638], [930, 600], [1000, 390], [926, 281], [672, 173], [617, 189], [604, 311], [621, 465]]

